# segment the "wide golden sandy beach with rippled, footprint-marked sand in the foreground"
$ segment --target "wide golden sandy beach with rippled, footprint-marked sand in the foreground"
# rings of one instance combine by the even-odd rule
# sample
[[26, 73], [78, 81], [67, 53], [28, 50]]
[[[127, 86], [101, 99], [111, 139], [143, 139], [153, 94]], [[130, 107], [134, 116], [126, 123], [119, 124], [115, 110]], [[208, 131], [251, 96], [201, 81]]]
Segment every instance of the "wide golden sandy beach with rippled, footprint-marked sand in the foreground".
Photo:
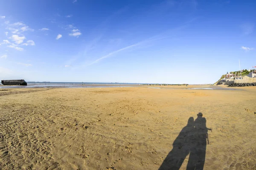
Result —
[[148, 87], [0, 89], [0, 169], [256, 169], [255, 87]]

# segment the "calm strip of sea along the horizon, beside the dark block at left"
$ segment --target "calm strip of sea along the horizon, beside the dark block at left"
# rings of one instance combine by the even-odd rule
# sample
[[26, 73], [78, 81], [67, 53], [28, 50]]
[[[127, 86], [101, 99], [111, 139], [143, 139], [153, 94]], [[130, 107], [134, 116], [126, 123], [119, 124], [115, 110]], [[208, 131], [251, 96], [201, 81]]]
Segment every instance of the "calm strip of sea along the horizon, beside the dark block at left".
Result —
[[0, 85], [0, 88], [111, 88], [132, 87], [138, 83], [105, 83], [105, 82], [27, 82], [22, 85]]

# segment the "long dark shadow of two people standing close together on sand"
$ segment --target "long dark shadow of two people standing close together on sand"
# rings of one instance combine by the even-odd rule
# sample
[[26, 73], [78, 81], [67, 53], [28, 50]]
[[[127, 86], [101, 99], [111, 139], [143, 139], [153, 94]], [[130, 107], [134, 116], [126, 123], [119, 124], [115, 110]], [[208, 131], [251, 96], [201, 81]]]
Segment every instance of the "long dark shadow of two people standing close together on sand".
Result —
[[[166, 156], [159, 170], [179, 170], [184, 159], [189, 154], [186, 170], [203, 170], [208, 130], [206, 119], [198, 113], [195, 119], [190, 117], [188, 124], [183, 127], [173, 142], [173, 148]], [[209, 140], [208, 140], [209, 144]]]

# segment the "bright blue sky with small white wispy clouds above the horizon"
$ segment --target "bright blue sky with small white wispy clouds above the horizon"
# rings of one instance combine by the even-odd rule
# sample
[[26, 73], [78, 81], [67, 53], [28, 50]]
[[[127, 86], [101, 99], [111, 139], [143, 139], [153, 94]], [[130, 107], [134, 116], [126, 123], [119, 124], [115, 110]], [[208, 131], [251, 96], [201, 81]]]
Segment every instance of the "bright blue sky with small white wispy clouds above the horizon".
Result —
[[253, 0], [1, 0], [0, 79], [214, 83], [256, 65]]

